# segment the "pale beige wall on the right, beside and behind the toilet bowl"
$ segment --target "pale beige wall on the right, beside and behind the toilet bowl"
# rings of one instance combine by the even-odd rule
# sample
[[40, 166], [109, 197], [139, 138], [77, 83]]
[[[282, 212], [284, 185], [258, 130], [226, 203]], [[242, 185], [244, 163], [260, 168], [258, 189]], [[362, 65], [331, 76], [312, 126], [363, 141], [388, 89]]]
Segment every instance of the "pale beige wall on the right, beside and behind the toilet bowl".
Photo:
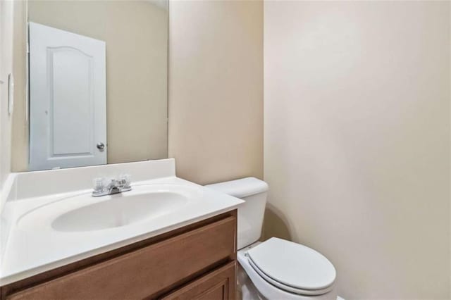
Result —
[[264, 13], [266, 235], [330, 258], [346, 299], [449, 299], [450, 2]]

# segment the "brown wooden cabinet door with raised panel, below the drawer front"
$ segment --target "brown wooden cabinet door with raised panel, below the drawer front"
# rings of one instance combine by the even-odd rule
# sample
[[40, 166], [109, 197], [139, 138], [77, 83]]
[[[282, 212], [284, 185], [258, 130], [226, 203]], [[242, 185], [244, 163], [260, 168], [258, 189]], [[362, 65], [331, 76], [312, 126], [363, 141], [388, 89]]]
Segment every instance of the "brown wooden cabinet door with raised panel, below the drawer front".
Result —
[[236, 262], [232, 261], [194, 282], [168, 294], [164, 300], [226, 300], [235, 299]]

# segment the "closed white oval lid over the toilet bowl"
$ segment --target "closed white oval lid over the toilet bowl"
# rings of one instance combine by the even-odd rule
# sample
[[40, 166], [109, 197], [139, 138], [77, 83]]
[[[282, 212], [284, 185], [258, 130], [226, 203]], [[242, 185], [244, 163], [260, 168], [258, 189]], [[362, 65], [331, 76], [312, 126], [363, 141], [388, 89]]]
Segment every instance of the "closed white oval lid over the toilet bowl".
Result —
[[247, 251], [247, 256], [264, 275], [279, 286], [300, 290], [328, 289], [335, 282], [332, 263], [307, 246], [272, 237]]

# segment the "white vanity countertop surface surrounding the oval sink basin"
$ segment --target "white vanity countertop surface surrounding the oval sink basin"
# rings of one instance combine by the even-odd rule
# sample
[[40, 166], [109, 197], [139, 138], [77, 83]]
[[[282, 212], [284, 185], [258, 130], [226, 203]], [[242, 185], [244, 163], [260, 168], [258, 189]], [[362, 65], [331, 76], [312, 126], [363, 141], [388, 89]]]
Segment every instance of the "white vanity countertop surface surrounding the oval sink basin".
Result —
[[[2, 230], [8, 230], [8, 232], [1, 232], [2, 235], [7, 235], [7, 239], [1, 259], [0, 286], [161, 235], [178, 227], [231, 211], [243, 203], [235, 197], [175, 176], [133, 182], [132, 187], [161, 184], [183, 185], [190, 189], [197, 189], [196, 199], [173, 213], [103, 230], [61, 232], [49, 229], [50, 227], [44, 224], [45, 221], [32, 228], [24, 229], [18, 226], [20, 217], [35, 208], [70, 196], [89, 194], [92, 189], [6, 201], [4, 211], [8, 211], [8, 226], [6, 226], [8, 228]], [[92, 199], [99, 201], [97, 198]]]

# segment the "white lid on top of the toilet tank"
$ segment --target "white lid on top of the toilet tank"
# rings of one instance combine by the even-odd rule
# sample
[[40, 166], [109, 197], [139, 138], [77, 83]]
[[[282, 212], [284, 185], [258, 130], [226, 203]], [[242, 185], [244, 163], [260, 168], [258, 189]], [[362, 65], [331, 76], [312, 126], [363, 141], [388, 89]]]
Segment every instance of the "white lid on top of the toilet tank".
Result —
[[213, 185], [206, 185], [211, 189], [216, 189], [219, 192], [242, 198], [246, 196], [252, 196], [268, 191], [268, 184], [263, 180], [259, 180], [255, 177], [246, 177], [237, 180], [231, 180], [226, 182], [218, 182]]

